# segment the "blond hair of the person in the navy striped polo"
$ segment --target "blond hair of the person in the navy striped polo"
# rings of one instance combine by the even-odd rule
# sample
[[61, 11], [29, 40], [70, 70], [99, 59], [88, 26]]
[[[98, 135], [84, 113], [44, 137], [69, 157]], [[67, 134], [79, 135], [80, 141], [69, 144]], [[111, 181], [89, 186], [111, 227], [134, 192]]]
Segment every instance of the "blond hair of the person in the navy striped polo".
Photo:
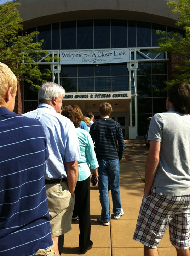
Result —
[[6, 91], [12, 87], [11, 95], [17, 91], [17, 79], [7, 65], [0, 62], [0, 104], [5, 102]]

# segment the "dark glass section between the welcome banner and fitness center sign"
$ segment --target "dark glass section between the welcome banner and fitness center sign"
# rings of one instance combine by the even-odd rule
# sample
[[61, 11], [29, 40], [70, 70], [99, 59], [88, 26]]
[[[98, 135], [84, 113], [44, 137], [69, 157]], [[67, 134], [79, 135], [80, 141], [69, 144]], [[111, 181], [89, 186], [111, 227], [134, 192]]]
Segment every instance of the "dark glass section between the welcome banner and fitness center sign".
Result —
[[62, 65], [61, 84], [67, 92], [128, 91], [127, 64]]

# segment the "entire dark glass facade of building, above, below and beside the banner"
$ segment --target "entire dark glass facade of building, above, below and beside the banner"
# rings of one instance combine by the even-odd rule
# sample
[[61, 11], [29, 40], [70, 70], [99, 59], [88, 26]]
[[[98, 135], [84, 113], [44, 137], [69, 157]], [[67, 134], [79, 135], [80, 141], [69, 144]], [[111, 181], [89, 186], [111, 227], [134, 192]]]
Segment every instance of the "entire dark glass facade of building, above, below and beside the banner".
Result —
[[[58, 22], [31, 28], [23, 31], [39, 31], [35, 42], [44, 40], [45, 50], [81, 50], [81, 49], [114, 49], [134, 47], [155, 47], [159, 35], [156, 30], [171, 31], [171, 27], [151, 22], [134, 20], [79, 20]], [[173, 28], [174, 31], [178, 31]], [[143, 55], [143, 54], [144, 55]], [[137, 94], [138, 94], [138, 135], [145, 134], [145, 120], [157, 112], [165, 111], [167, 80], [167, 62], [147, 62], [143, 56], [151, 57], [156, 53], [144, 49], [137, 54]], [[134, 57], [134, 56], [133, 56]], [[144, 61], [143, 61], [144, 58]], [[163, 59], [163, 55], [160, 55]], [[50, 69], [50, 65], [40, 68]], [[29, 78], [30, 79], [30, 78]], [[47, 81], [51, 78], [44, 78]], [[37, 81], [38, 82], [38, 81]], [[55, 80], [55, 82], [58, 82]], [[129, 90], [127, 63], [62, 65], [60, 84], [66, 92], [114, 92]], [[37, 91], [23, 83], [24, 112], [38, 105]], [[132, 89], [132, 94], [134, 90]], [[132, 108], [134, 98], [132, 98]], [[132, 111], [134, 125], [134, 111]]]

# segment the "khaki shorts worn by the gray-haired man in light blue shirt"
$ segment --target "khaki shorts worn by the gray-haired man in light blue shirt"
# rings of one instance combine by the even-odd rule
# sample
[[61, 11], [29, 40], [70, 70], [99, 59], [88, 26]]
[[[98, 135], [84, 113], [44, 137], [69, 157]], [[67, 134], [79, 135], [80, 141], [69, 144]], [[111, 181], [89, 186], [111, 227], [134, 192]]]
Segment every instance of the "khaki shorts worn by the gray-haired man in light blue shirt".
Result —
[[50, 213], [51, 236], [60, 236], [71, 230], [75, 197], [71, 196], [67, 182], [46, 184], [47, 203]]

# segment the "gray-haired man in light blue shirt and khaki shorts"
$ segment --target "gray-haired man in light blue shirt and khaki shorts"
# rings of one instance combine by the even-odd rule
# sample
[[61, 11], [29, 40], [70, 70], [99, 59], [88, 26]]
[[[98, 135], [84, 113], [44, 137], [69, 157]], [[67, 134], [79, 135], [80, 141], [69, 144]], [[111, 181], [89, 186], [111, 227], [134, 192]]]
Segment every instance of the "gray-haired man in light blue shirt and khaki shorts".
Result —
[[38, 92], [39, 106], [24, 116], [38, 119], [44, 127], [49, 158], [45, 165], [45, 184], [50, 213], [54, 251], [59, 239], [71, 229], [74, 190], [78, 178], [80, 147], [74, 124], [59, 114], [65, 90], [53, 82], [43, 84]]

